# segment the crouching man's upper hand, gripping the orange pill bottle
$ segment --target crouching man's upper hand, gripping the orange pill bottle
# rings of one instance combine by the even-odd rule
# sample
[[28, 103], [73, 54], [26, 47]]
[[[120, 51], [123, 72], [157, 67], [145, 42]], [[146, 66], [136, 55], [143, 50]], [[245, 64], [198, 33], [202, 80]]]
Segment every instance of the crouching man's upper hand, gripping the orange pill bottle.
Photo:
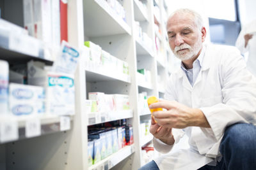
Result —
[[[162, 126], [162, 131], [168, 128], [183, 129], [188, 126], [210, 127], [204, 113], [197, 108], [189, 108], [184, 104], [176, 101], [161, 100], [157, 103], [150, 104], [150, 108], [164, 108], [166, 111], [154, 111], [152, 114], [158, 126]], [[154, 125], [156, 129], [156, 125]], [[166, 129], [167, 128], [167, 129]], [[151, 127], [150, 127], [151, 129]], [[159, 131], [160, 132], [160, 131]]]

